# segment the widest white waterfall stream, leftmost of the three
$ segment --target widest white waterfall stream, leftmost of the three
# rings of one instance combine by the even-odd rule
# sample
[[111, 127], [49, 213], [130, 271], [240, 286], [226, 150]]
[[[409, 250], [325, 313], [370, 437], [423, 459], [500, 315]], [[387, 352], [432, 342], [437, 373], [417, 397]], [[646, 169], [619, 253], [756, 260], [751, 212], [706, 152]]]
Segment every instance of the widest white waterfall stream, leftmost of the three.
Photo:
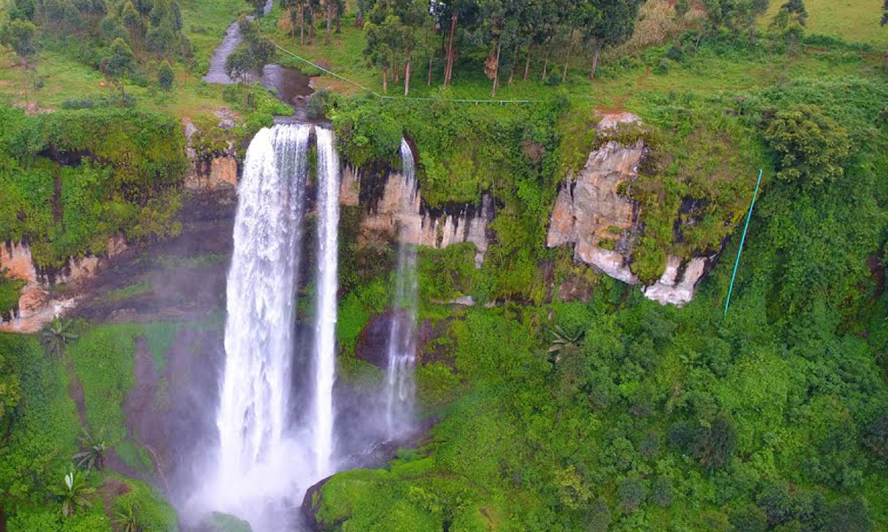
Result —
[[257, 532], [279, 522], [268, 522], [256, 501], [296, 496], [293, 468], [280, 472], [297, 458], [286, 432], [308, 137], [308, 126], [261, 129], [238, 186], [211, 498]]

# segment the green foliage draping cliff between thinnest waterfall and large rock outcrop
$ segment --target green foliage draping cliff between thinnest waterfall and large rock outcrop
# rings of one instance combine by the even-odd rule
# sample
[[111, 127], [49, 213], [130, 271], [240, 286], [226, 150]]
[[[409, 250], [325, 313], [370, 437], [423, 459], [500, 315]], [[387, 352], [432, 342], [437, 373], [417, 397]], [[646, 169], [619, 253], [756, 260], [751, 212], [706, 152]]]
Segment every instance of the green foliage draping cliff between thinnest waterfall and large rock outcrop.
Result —
[[479, 207], [482, 194], [492, 195], [496, 241], [471, 291], [481, 301], [538, 297], [537, 263], [546, 253], [559, 167], [556, 122], [567, 102], [456, 106], [444, 96], [431, 103], [340, 99], [330, 115], [342, 158], [359, 167], [391, 165], [408, 137], [427, 207]]

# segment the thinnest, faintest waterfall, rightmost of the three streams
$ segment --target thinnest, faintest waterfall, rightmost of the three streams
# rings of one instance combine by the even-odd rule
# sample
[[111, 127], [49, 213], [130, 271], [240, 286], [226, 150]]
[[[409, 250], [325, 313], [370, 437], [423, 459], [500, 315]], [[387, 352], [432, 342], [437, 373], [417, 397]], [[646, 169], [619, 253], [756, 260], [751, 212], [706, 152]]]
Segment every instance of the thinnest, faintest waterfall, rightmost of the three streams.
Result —
[[[413, 153], [406, 140], [400, 141], [401, 172], [404, 190], [411, 191], [406, 198], [410, 204], [416, 194], [416, 168]], [[414, 380], [416, 366], [416, 246], [405, 242], [404, 227], [400, 227], [398, 270], [395, 272], [392, 299], [392, 320], [388, 340], [388, 367], [385, 373], [385, 422], [388, 437], [402, 434], [410, 425], [413, 414]]]

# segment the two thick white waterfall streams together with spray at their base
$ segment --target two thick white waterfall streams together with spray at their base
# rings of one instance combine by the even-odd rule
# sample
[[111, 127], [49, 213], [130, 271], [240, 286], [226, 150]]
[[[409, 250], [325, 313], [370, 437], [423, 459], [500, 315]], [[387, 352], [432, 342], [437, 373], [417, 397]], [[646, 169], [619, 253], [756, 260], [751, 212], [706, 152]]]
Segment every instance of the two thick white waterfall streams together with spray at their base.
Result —
[[[279, 125], [253, 137], [238, 185], [227, 278], [226, 362], [217, 415], [216, 474], [186, 505], [194, 520], [226, 512], [254, 532], [297, 527], [305, 489], [335, 472], [339, 162], [329, 129], [317, 137], [318, 255], [313, 350], [294, 353], [308, 147], [313, 127]], [[305, 364], [294, 365], [294, 360]], [[311, 370], [305, 408], [294, 369]]]

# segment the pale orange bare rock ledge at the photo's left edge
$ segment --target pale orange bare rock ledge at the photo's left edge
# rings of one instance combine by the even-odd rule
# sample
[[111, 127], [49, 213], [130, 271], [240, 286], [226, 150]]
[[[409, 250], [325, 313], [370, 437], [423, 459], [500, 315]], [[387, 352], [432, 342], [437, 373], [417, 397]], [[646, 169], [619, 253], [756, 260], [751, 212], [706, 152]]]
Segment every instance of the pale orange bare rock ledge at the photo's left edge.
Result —
[[[72, 257], [60, 270], [42, 271], [35, 266], [27, 244], [11, 242], [0, 246], [0, 270], [5, 270], [9, 278], [27, 283], [21, 289], [19, 309], [13, 312], [11, 320], [0, 322], [0, 331], [39, 331], [53, 317], [74, 307], [77, 301], [76, 289], [93, 278], [96, 270], [99, 270], [108, 257], [120, 254], [125, 249], [123, 238], [111, 239], [105, 257]], [[64, 292], [53, 290], [53, 286], [59, 285], [65, 286]]]

